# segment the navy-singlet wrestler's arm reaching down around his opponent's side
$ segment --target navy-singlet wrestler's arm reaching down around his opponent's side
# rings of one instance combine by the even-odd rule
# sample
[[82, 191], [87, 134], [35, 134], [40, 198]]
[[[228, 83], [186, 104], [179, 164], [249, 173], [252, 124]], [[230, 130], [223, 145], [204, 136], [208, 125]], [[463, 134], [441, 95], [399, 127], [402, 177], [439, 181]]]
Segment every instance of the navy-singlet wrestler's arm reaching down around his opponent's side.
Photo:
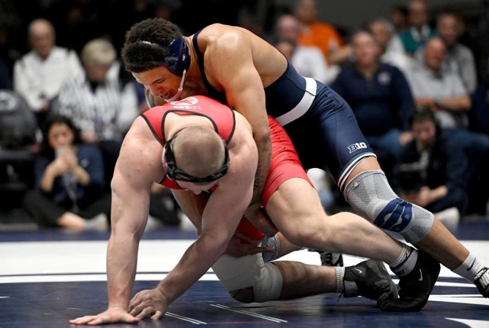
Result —
[[258, 205], [270, 168], [271, 140], [265, 91], [253, 64], [251, 46], [239, 33], [230, 33], [216, 40], [206, 55], [215, 78], [226, 91], [229, 105], [246, 117], [253, 129], [258, 167], [251, 205]]

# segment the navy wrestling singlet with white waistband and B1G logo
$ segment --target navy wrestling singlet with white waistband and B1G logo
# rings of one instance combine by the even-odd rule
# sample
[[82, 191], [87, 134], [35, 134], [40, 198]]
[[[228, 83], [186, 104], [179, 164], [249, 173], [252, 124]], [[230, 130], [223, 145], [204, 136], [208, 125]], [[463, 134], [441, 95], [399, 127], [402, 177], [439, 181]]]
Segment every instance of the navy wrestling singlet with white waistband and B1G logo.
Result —
[[[226, 104], [225, 94], [215, 90], [205, 76], [197, 44], [201, 31], [193, 43], [202, 80], [208, 96]], [[285, 128], [304, 168], [327, 167], [343, 190], [355, 165], [375, 156], [346, 101], [319, 81], [299, 75], [288, 61], [285, 72], [264, 90], [267, 114]]]

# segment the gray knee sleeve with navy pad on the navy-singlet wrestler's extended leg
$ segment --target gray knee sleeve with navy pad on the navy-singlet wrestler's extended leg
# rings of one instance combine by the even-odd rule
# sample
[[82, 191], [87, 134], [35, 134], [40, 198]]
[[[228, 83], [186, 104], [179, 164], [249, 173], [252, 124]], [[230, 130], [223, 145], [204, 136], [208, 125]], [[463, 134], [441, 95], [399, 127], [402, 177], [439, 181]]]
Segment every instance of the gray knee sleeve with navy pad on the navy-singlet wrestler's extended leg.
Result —
[[420, 241], [433, 226], [433, 214], [397, 197], [381, 170], [359, 173], [348, 182], [344, 195], [361, 216], [408, 242]]

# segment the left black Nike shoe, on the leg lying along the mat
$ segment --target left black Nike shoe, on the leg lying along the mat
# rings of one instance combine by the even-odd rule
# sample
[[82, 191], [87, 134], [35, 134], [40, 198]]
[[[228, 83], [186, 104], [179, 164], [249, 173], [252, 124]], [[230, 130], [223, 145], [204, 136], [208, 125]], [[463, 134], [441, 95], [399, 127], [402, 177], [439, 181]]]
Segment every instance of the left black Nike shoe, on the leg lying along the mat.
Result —
[[381, 261], [366, 260], [345, 267], [343, 286], [345, 297], [364, 296], [377, 300], [377, 306], [397, 298], [396, 284]]

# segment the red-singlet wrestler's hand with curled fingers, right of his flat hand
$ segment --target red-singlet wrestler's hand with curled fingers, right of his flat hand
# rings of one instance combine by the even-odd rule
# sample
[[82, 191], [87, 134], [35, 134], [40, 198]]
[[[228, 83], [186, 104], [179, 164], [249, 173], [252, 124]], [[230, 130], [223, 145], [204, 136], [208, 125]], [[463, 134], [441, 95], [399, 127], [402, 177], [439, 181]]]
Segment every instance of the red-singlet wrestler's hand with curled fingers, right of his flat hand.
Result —
[[129, 313], [138, 319], [151, 316], [151, 319], [158, 320], [167, 308], [167, 299], [158, 288], [142, 290], [129, 302]]

